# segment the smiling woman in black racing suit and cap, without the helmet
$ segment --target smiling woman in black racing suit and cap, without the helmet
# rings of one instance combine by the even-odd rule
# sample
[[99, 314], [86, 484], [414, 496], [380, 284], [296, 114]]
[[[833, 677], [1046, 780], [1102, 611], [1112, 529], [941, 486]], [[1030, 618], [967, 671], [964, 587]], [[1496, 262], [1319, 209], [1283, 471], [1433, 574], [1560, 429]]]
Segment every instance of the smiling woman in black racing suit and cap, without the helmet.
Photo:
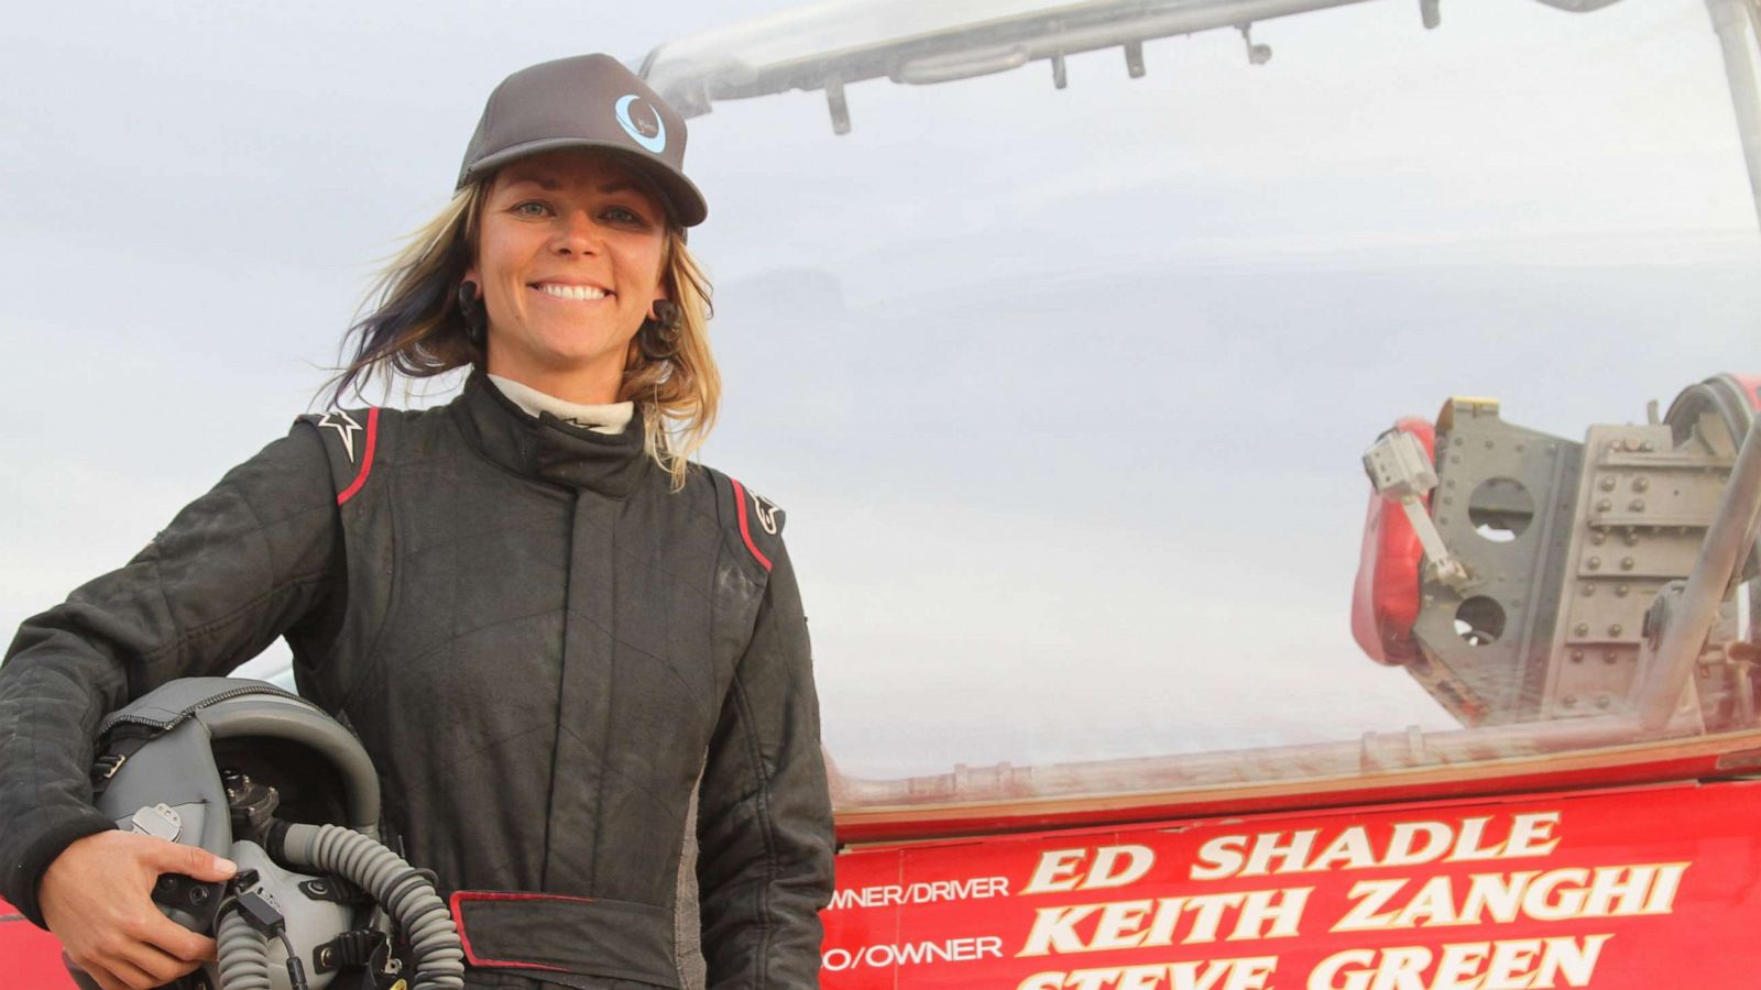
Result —
[[710, 985], [817, 983], [831, 816], [782, 516], [687, 462], [718, 379], [683, 144], [613, 58], [505, 79], [336, 386], [468, 365], [463, 395], [301, 417], [21, 627], [0, 668], [0, 895], [100, 985], [211, 955], [148, 890], [231, 865], [92, 809], [97, 720], [284, 634], [451, 895], [470, 985], [676, 986], [699, 775]]

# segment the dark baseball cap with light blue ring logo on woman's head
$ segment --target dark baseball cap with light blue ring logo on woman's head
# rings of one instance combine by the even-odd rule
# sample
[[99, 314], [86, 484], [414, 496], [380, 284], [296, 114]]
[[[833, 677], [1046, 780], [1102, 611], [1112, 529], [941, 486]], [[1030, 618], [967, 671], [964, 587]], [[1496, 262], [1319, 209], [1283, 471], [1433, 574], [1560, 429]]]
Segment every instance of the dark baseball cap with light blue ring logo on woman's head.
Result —
[[710, 213], [685, 178], [685, 118], [609, 55], [541, 62], [502, 79], [465, 148], [458, 188], [514, 159], [564, 148], [625, 151], [685, 227]]

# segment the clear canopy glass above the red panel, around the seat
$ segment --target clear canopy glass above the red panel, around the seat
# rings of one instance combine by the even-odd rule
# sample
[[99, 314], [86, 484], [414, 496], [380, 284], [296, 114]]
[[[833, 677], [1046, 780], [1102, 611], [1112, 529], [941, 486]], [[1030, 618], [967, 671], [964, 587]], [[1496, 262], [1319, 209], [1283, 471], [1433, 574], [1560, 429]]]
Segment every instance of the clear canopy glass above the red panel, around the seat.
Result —
[[706, 460], [787, 511], [842, 805], [1632, 742], [1523, 729], [1611, 689], [1476, 729], [1365, 655], [1361, 458], [1449, 396], [1583, 444], [1761, 370], [1706, 4], [1124, 7], [1242, 5], [824, 4], [648, 58], [711, 203]]

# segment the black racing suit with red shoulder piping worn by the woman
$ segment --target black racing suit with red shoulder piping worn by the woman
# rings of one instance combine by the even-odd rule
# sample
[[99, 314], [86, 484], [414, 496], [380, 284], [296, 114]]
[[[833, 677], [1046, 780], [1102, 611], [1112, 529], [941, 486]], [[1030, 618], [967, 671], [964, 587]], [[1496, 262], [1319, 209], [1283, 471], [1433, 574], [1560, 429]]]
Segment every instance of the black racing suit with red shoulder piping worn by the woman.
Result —
[[[123, 569], [28, 620], [0, 666], [0, 895], [113, 823], [99, 719], [287, 638], [386, 821], [431, 867], [474, 986], [676, 986], [701, 773], [717, 988], [817, 985], [831, 893], [819, 713], [780, 513], [620, 435], [534, 419], [481, 375], [423, 412], [308, 416]], [[509, 897], [542, 893], [549, 897]]]

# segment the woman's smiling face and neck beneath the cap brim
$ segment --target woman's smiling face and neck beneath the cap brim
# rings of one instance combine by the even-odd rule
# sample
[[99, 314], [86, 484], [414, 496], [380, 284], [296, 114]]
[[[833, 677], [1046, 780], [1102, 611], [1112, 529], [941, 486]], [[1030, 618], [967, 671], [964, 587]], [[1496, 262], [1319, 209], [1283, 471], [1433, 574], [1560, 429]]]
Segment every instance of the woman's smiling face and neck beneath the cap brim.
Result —
[[666, 210], [608, 155], [521, 159], [490, 185], [467, 278], [488, 370], [571, 402], [613, 402], [630, 338], [666, 298]]

